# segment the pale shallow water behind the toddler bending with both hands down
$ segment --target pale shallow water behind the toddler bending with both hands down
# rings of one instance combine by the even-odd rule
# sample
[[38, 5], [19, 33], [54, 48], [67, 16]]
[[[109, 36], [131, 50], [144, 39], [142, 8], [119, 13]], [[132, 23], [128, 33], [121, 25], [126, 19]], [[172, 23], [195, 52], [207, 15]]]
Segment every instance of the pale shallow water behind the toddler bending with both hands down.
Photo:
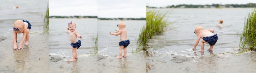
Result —
[[[44, 17], [48, 0], [2, 0], [0, 3], [0, 34], [12, 33], [16, 20], [27, 20], [31, 23], [30, 32], [43, 31]], [[18, 5], [18, 8], [13, 8]]]

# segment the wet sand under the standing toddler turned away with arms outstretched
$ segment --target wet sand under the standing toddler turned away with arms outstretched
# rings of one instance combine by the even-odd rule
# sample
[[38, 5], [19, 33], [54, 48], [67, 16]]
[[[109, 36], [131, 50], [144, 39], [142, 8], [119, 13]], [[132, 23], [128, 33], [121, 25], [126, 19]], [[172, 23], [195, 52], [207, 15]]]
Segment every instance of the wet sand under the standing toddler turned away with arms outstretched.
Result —
[[127, 57], [117, 59], [117, 55], [98, 53], [98, 73], [146, 73], [146, 53], [127, 53]]

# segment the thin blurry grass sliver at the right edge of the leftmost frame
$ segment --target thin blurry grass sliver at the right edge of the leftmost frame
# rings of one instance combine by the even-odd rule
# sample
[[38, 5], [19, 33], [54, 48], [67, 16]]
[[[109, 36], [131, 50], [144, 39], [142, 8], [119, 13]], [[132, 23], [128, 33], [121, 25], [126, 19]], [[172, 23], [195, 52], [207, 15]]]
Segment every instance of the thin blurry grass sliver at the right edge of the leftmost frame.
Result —
[[44, 33], [49, 31], [49, 5], [47, 5], [46, 15], [44, 17]]

